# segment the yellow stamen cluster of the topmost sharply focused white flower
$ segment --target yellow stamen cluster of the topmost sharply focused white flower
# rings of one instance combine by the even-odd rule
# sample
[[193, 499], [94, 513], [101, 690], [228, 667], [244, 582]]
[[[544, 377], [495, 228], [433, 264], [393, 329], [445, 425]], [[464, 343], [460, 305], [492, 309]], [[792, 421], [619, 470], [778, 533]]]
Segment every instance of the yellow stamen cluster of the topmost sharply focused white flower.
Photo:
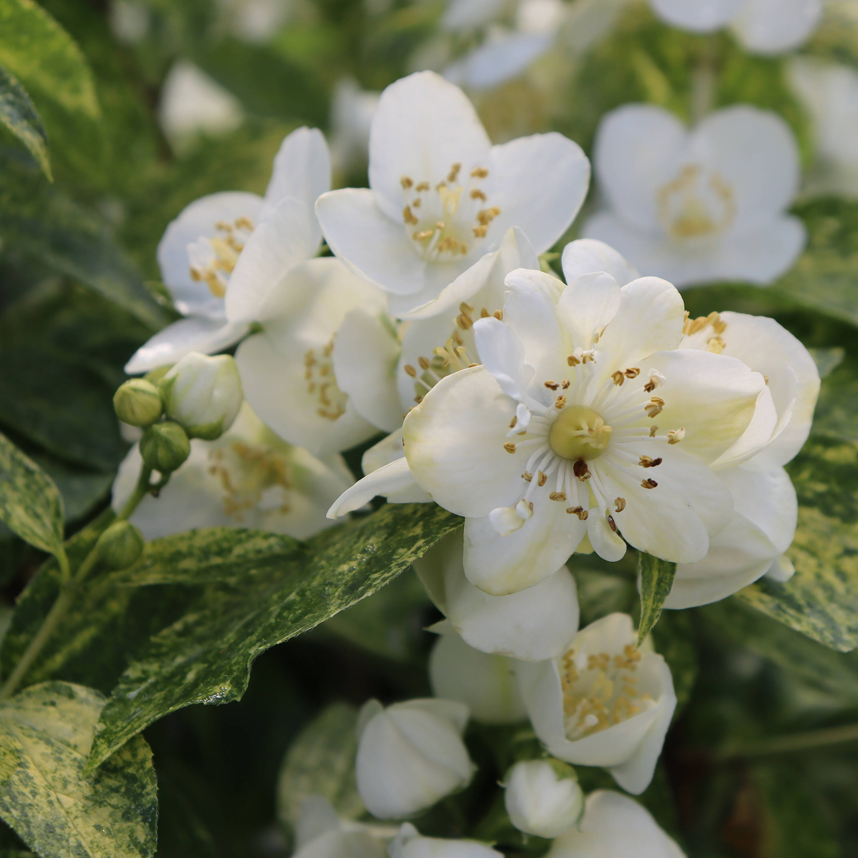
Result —
[[479, 186], [488, 170], [474, 167], [464, 184], [461, 173], [460, 163], [451, 165], [447, 177], [434, 187], [410, 176], [400, 179], [405, 200], [402, 221], [417, 252], [429, 261], [449, 262], [467, 255], [500, 214], [497, 206], [486, 205], [486, 193]]

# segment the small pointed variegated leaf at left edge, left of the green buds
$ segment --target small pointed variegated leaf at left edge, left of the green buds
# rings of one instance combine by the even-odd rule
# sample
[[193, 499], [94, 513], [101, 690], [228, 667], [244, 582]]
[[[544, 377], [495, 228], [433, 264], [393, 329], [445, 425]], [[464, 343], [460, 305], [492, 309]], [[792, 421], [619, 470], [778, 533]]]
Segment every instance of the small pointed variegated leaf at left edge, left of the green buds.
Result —
[[0, 434], [0, 519], [49, 554], [63, 553], [63, 498], [53, 480]]

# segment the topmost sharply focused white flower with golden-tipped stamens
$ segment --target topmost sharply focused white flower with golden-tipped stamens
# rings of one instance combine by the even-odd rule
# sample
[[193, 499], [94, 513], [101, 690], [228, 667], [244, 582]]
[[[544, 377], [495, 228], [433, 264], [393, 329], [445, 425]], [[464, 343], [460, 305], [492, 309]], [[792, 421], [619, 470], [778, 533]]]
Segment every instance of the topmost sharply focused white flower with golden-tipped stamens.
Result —
[[434, 315], [432, 302], [445, 290], [460, 296], [456, 303], [479, 291], [510, 227], [520, 227], [537, 253], [547, 251], [583, 202], [589, 163], [556, 133], [492, 147], [462, 91], [420, 72], [381, 96], [369, 180], [369, 189], [319, 198], [325, 238], [390, 293], [394, 316], [420, 308]]

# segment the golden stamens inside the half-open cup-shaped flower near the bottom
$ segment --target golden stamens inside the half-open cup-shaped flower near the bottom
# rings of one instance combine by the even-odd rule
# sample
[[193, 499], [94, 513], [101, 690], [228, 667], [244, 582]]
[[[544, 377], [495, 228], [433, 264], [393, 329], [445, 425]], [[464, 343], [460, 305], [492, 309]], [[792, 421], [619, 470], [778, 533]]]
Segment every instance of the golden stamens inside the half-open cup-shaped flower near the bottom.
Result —
[[641, 653], [626, 644], [621, 654], [578, 655], [568, 650], [560, 659], [563, 714], [570, 741], [613, 727], [656, 702], [637, 690], [637, 664]]

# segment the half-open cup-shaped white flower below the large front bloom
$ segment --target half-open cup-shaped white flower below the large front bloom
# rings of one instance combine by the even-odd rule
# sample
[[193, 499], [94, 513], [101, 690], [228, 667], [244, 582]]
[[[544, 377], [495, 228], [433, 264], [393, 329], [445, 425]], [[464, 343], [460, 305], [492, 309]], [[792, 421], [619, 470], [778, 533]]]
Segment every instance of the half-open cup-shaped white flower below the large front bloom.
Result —
[[634, 795], [652, 780], [676, 708], [674, 681], [631, 617], [610, 613], [547, 662], [517, 662], [536, 735], [567, 763], [599, 765]]

